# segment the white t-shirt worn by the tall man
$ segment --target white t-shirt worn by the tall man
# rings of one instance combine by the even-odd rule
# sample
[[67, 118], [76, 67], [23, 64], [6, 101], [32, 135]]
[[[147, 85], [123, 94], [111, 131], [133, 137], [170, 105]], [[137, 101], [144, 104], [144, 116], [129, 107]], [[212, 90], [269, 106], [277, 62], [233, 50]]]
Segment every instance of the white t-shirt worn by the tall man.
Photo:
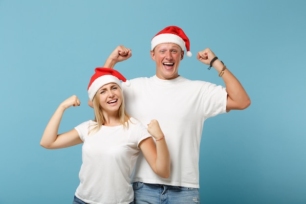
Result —
[[224, 87], [182, 76], [162, 80], [129, 80], [122, 89], [129, 114], [148, 124], [157, 119], [165, 135], [171, 173], [167, 179], [156, 175], [142, 154], [136, 162], [132, 182], [159, 183], [199, 188], [199, 146], [203, 123], [219, 113], [226, 113], [227, 92]]

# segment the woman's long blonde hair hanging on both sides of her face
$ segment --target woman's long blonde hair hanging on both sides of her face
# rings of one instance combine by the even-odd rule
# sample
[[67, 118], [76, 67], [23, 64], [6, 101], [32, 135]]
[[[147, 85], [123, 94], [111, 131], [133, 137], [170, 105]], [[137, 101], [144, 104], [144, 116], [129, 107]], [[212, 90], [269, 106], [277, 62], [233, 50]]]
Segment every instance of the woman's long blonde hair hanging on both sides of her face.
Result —
[[[119, 86], [118, 86], [119, 87]], [[119, 87], [120, 89], [120, 87]], [[119, 121], [121, 123], [121, 125], [123, 125], [123, 128], [129, 128], [129, 121], [130, 121], [130, 115], [127, 113], [126, 109], [125, 109], [125, 103], [124, 103], [124, 96], [123, 96], [123, 92], [120, 89], [121, 94], [122, 94], [122, 102], [121, 105], [119, 107], [118, 110], [118, 118]], [[94, 110], [94, 120], [96, 122], [96, 124], [91, 125], [88, 131], [88, 135], [91, 133], [96, 133], [100, 130], [100, 128], [102, 127], [102, 125], [105, 123], [105, 118], [102, 112], [102, 107], [100, 105], [100, 98], [99, 98], [99, 92], [97, 91], [96, 94], [93, 96], [92, 99], [93, 102], [93, 110]]]

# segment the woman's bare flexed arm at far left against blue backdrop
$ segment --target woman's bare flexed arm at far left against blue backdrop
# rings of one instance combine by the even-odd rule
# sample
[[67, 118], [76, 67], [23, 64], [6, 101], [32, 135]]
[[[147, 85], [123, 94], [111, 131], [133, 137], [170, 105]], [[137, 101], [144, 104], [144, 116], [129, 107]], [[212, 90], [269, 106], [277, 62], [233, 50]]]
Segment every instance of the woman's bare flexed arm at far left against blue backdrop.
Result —
[[73, 95], [63, 101], [60, 106], [56, 109], [55, 113], [49, 120], [44, 134], [41, 139], [41, 145], [46, 149], [59, 149], [70, 147], [82, 143], [78, 132], [72, 129], [69, 132], [58, 135], [58, 129], [63, 117], [63, 113], [70, 106], [79, 106], [80, 101], [77, 96]]

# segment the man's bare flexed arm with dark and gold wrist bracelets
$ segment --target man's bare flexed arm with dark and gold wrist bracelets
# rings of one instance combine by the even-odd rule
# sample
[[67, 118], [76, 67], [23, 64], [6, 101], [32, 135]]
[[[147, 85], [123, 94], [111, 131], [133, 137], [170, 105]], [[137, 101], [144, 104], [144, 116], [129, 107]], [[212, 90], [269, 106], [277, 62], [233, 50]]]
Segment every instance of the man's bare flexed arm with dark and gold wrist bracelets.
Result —
[[[209, 48], [206, 48], [203, 51], [197, 53], [197, 59], [206, 65], [210, 65], [210, 62], [214, 57], [216, 57], [216, 55]], [[219, 59], [217, 59], [215, 62], [213, 62], [213, 67], [219, 73], [224, 65]], [[251, 100], [248, 94], [243, 89], [238, 79], [227, 68], [224, 70], [222, 78], [224, 80], [227, 91], [226, 109], [242, 110], [249, 107]]]

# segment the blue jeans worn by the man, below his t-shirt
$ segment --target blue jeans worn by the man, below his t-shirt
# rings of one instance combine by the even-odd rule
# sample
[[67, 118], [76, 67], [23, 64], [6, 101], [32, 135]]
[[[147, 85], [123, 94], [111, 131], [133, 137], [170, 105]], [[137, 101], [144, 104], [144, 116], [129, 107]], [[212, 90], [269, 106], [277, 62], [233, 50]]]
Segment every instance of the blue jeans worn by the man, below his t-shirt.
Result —
[[200, 204], [197, 188], [134, 182], [135, 204]]

